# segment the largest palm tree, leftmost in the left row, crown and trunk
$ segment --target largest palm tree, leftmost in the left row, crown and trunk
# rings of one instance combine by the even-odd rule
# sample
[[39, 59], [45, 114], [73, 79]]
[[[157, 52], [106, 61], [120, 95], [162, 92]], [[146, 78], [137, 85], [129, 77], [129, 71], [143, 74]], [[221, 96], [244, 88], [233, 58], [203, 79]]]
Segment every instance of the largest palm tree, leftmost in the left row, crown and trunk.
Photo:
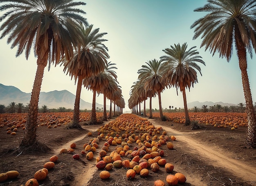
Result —
[[73, 55], [73, 45], [81, 40], [81, 22], [87, 21], [80, 14], [85, 14], [79, 5], [84, 2], [73, 0], [8, 0], [0, 7], [5, 11], [1, 16], [1, 37], [9, 35], [7, 43], [11, 48], [18, 47], [16, 57], [25, 52], [28, 58], [32, 45], [37, 56], [37, 70], [29, 102], [29, 113], [25, 135], [20, 146], [36, 143], [36, 117], [38, 114], [38, 101], [43, 80], [44, 69], [49, 62], [55, 65], [61, 56], [69, 59]]

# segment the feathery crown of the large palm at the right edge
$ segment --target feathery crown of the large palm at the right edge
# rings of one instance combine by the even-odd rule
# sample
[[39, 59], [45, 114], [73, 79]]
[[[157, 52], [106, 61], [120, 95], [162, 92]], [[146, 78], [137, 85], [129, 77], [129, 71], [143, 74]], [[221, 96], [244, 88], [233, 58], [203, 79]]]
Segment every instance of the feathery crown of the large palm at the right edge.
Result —
[[[208, 48], [213, 55], [220, 53], [229, 61], [233, 52], [233, 41], [240, 34], [243, 44], [252, 57], [252, 47], [256, 52], [256, 2], [252, 0], [208, 0], [204, 7], [194, 11], [209, 12], [196, 20], [191, 28], [195, 28], [193, 39], [202, 34], [202, 46]], [[235, 33], [235, 30], [239, 33]], [[236, 46], [238, 47], [238, 46]]]

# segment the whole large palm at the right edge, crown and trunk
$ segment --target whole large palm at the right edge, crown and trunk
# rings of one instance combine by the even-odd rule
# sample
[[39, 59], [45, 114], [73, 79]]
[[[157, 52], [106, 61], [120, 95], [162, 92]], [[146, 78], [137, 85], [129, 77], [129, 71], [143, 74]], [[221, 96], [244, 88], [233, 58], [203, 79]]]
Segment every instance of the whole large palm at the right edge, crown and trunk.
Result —
[[233, 46], [236, 47], [241, 70], [243, 91], [245, 95], [248, 119], [247, 143], [256, 148], [256, 116], [252, 102], [252, 93], [247, 74], [247, 51], [251, 58], [256, 52], [256, 1], [252, 0], [208, 0], [204, 7], [194, 11], [209, 12], [196, 20], [191, 28], [195, 28], [193, 39], [202, 34], [201, 47], [210, 52], [220, 53], [220, 57], [230, 60]]

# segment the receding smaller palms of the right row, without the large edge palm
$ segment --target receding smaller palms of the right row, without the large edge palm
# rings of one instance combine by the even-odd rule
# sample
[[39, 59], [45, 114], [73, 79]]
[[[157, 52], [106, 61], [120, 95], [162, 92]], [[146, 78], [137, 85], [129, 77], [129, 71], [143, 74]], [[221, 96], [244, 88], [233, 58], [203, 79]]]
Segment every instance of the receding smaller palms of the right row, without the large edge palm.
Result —
[[[142, 65], [142, 68], [138, 70], [138, 81], [132, 85], [130, 91], [130, 99], [128, 101], [129, 108], [132, 112], [137, 112], [137, 105], [144, 101], [144, 116], [146, 116], [145, 101], [150, 100], [149, 117], [152, 117], [152, 97], [158, 95], [159, 101], [159, 114], [162, 120], [166, 120], [162, 112], [161, 92], [165, 88], [176, 87], [177, 94], [178, 88], [183, 95], [184, 112], [186, 117], [185, 125], [190, 124], [189, 112], [186, 103], [186, 91], [185, 88], [190, 90], [190, 87], [194, 83], [198, 82], [197, 72], [201, 74], [201, 68], [196, 62], [205, 65], [202, 57], [199, 56], [199, 52], [191, 47], [187, 49], [187, 44], [184, 43], [171, 46], [171, 48], [164, 49], [166, 54], [160, 57], [160, 60], [151, 60], [146, 62], [146, 65]], [[202, 75], [202, 74], [201, 74]]]

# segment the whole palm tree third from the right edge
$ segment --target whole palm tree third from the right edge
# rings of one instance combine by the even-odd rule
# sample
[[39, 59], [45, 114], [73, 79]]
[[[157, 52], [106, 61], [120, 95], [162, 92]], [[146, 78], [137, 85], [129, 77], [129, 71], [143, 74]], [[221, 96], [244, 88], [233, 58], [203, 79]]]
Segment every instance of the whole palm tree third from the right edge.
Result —
[[146, 90], [153, 90], [158, 94], [159, 102], [159, 114], [160, 118], [163, 119], [161, 92], [165, 89], [166, 84], [162, 81], [163, 69], [162, 61], [156, 59], [146, 62], [146, 65], [142, 65], [142, 68], [138, 70], [138, 79], [143, 79], [144, 87]]

